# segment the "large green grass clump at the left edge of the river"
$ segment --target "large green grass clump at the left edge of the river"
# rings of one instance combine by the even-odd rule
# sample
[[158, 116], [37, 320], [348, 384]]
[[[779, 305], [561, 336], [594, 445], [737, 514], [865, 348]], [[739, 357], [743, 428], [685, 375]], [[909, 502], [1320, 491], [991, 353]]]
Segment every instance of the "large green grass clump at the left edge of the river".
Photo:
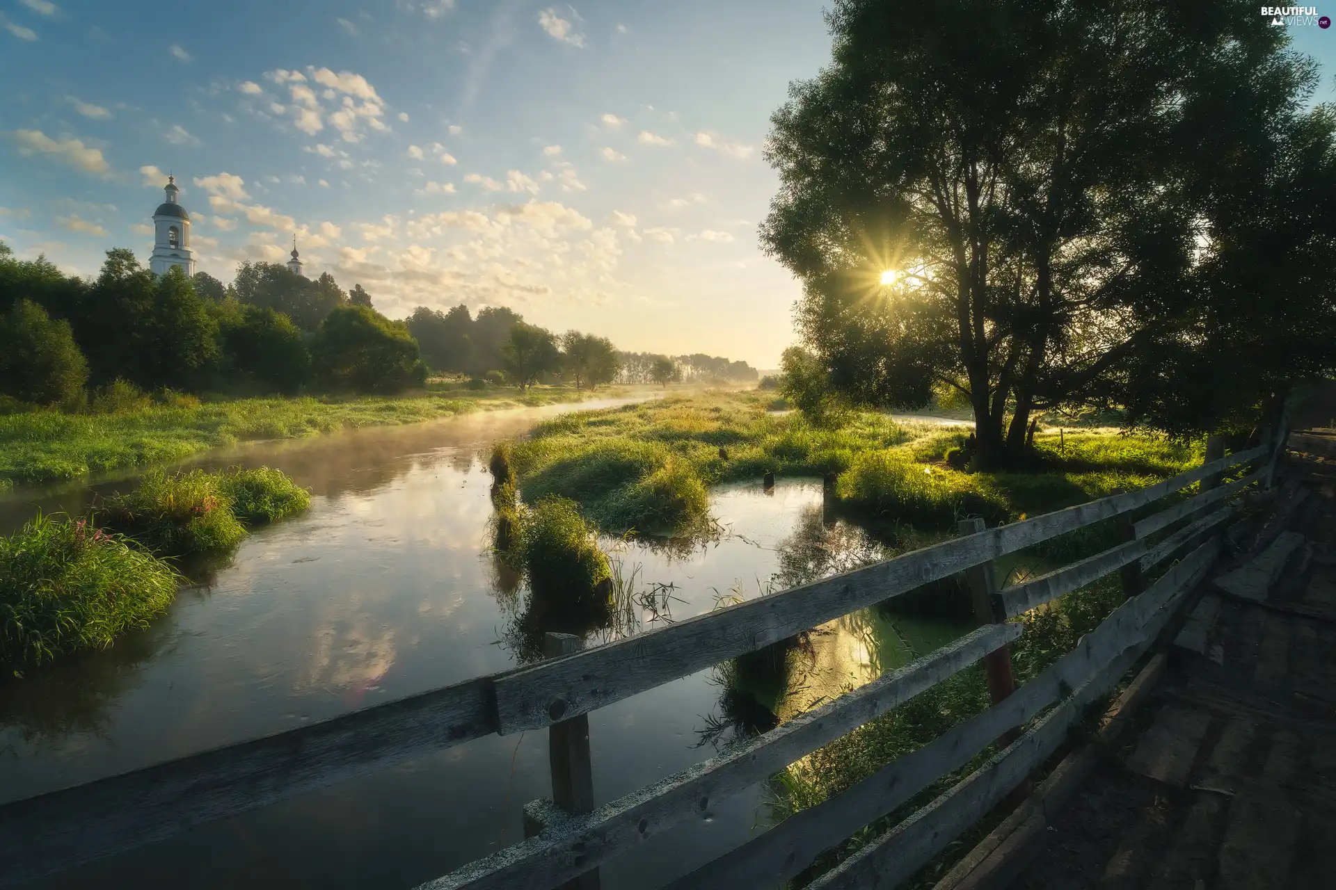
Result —
[[0, 536], [0, 663], [106, 648], [176, 595], [179, 575], [119, 535], [39, 515]]

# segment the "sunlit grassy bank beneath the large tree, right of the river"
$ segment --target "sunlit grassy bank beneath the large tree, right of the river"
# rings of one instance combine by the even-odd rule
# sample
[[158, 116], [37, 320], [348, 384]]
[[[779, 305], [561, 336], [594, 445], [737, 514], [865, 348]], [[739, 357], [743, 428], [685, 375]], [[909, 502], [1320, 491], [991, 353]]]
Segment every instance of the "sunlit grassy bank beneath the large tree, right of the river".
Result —
[[604, 531], [681, 531], [720, 482], [836, 474], [851, 511], [949, 526], [990, 523], [1138, 488], [1201, 459], [1196, 444], [1113, 431], [1039, 435], [1031, 472], [949, 466], [967, 431], [863, 412], [838, 427], [767, 411], [768, 394], [705, 394], [570, 414], [512, 443], [526, 499], [565, 496]]

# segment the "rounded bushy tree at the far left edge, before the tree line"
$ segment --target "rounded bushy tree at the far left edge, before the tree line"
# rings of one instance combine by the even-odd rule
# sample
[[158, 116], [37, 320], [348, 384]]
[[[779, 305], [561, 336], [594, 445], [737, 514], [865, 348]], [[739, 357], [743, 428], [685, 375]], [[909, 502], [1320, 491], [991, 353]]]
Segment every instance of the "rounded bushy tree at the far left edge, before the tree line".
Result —
[[0, 314], [0, 392], [36, 404], [73, 404], [88, 380], [88, 363], [69, 323], [31, 300]]

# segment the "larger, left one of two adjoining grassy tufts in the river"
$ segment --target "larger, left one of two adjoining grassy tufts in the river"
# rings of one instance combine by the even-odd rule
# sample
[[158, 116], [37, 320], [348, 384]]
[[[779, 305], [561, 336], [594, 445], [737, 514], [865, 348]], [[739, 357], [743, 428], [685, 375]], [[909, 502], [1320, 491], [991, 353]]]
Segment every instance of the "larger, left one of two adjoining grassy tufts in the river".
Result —
[[174, 556], [230, 550], [246, 536], [219, 475], [203, 470], [171, 476], [154, 470], [134, 491], [110, 498], [96, 519]]

